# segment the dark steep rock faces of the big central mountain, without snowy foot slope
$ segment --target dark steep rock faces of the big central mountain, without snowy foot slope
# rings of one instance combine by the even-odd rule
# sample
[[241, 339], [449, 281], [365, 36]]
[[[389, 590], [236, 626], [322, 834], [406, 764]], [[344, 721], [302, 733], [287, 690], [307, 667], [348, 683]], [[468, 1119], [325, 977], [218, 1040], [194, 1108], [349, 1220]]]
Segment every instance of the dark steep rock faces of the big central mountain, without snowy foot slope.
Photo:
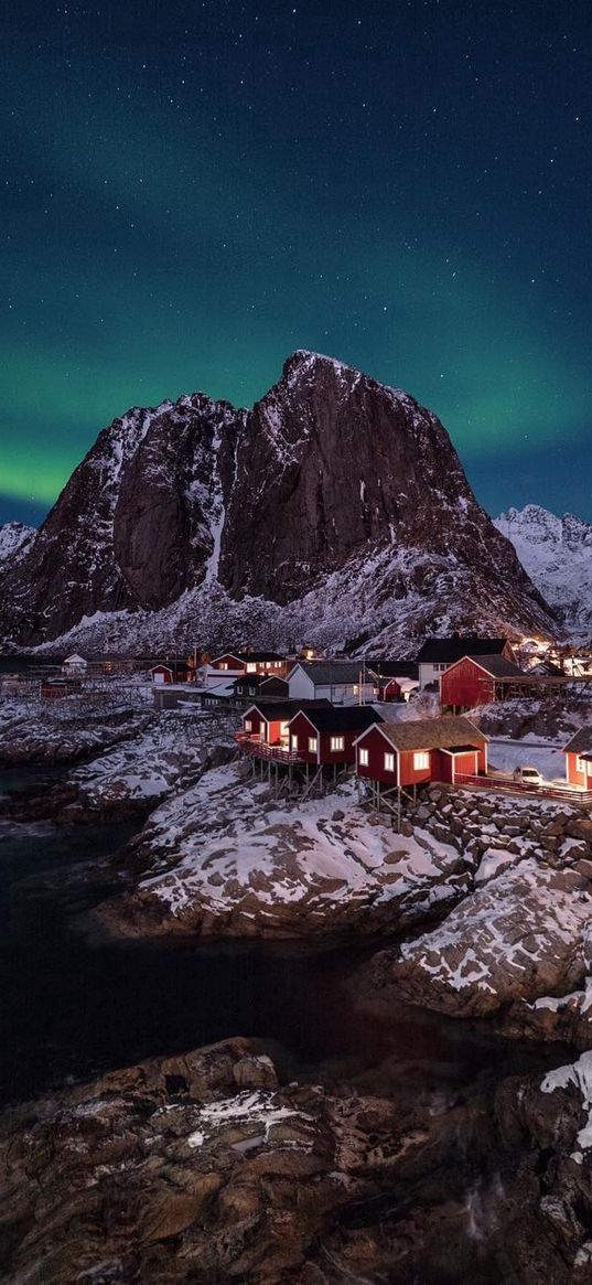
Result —
[[367, 556], [371, 587], [385, 549], [433, 551], [473, 567], [479, 585], [542, 601], [439, 420], [295, 352], [252, 411], [195, 393], [104, 429], [37, 536], [3, 563], [0, 632], [36, 644], [83, 616], [158, 610], [214, 581], [232, 599], [285, 604], [352, 558]]

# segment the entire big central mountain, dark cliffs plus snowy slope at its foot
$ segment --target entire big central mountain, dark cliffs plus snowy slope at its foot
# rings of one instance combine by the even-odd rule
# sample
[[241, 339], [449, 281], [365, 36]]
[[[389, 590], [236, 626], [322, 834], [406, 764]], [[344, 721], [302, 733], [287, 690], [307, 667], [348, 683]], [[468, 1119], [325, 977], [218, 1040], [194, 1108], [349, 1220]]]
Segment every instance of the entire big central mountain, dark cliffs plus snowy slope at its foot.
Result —
[[104, 429], [0, 573], [13, 645], [408, 645], [555, 630], [412, 397], [294, 352], [252, 411], [194, 393]]

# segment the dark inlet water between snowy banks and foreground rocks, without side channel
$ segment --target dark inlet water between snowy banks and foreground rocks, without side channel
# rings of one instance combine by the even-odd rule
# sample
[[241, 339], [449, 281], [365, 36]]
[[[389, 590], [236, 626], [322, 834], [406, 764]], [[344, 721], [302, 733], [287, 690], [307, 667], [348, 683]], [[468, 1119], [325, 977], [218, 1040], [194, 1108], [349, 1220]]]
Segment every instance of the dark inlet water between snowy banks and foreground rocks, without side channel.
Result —
[[[42, 774], [41, 774], [42, 776]], [[0, 775], [0, 792], [40, 783]], [[227, 1036], [279, 1042], [285, 1072], [446, 1091], [559, 1064], [562, 1050], [496, 1038], [401, 1006], [356, 1013], [347, 980], [387, 943], [119, 943], [89, 914], [117, 887], [105, 857], [128, 825], [0, 820], [0, 1100]]]

